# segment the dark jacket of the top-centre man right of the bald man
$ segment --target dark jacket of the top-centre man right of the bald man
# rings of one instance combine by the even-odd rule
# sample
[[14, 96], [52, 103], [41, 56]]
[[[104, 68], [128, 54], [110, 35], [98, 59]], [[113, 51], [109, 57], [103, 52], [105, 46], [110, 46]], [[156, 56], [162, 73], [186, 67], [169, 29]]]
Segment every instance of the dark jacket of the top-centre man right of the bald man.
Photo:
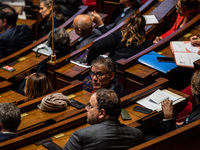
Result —
[[138, 1], [136, 4], [134, 4], [132, 7], [130, 7], [125, 12], [124, 12], [124, 6], [122, 6], [122, 5], [119, 6], [119, 9], [117, 9], [117, 11], [113, 14], [113, 17], [111, 17], [111, 18], [115, 18], [114, 21], [111, 22], [109, 25], [99, 27], [98, 29], [101, 31], [102, 34], [106, 33], [110, 29], [114, 28], [116, 25], [123, 22], [126, 18], [131, 16], [138, 8], [140, 8], [141, 5], [142, 5], [142, 3], [140, 1]]

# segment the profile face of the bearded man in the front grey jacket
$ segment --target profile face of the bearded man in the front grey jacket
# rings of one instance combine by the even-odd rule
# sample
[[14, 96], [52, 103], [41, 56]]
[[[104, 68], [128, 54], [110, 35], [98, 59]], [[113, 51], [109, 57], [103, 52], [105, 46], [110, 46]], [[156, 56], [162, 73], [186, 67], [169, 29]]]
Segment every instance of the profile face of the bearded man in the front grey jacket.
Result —
[[89, 103], [87, 104], [85, 109], [87, 110], [87, 122], [89, 124], [96, 124], [96, 123], [100, 122], [96, 93], [94, 93], [90, 97]]

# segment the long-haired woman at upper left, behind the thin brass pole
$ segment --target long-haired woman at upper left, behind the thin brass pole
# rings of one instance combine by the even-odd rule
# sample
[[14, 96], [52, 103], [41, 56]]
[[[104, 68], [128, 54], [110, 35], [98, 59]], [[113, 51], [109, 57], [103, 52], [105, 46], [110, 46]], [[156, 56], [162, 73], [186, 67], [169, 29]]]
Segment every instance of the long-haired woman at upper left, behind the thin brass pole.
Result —
[[[55, 1], [55, 0], [54, 0]], [[52, 30], [52, 16], [51, 16], [51, 0], [40, 0], [39, 2], [39, 13], [44, 19], [44, 25], [39, 33], [39, 38], [47, 35]], [[54, 13], [54, 27], [59, 27], [64, 23], [64, 16], [61, 13], [60, 6], [55, 2], [53, 6]]]

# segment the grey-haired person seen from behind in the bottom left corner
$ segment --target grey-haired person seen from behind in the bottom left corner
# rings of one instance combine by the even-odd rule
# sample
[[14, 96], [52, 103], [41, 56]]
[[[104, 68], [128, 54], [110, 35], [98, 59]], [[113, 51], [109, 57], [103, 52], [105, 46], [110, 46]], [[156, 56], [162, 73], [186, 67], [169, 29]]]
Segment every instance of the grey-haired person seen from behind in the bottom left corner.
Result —
[[21, 112], [15, 104], [0, 104], [0, 142], [17, 137], [17, 128], [20, 123]]

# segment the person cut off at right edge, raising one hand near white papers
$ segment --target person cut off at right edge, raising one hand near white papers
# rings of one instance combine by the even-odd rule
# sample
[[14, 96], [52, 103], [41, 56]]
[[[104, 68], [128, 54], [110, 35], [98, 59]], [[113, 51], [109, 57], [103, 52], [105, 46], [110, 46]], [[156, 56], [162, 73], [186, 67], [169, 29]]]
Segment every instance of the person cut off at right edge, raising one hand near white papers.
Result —
[[[182, 124], [188, 124], [200, 119], [200, 70], [197, 70], [191, 79], [192, 95], [197, 102], [197, 105], [193, 106], [192, 113], [187, 117], [186, 121]], [[173, 105], [171, 100], [165, 100], [162, 103], [162, 109], [164, 118], [167, 121], [163, 121], [163, 127], [165, 132], [169, 132], [175, 129], [175, 123], [173, 119]]]

